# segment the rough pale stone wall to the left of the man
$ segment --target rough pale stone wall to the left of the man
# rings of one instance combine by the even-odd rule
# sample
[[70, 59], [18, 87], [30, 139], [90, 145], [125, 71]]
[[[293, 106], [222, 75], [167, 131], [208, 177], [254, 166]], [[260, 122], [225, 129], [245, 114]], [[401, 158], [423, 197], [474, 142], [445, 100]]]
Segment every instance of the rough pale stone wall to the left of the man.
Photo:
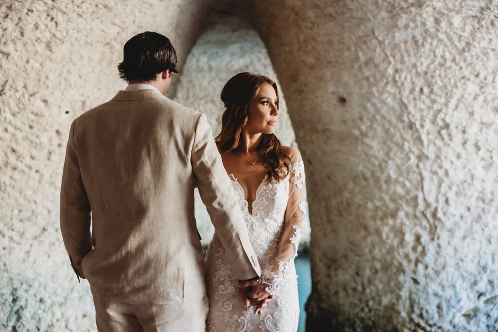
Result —
[[125, 87], [117, 64], [134, 34], [168, 35], [183, 63], [205, 2], [0, 2], [0, 330], [94, 330], [59, 231], [70, 124]]

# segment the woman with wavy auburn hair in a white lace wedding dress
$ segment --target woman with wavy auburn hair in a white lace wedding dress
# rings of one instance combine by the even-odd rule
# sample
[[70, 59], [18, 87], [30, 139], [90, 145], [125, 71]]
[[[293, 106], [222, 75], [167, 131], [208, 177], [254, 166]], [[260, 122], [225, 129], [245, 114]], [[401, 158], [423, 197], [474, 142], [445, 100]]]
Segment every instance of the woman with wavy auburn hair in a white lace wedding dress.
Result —
[[[303, 161], [298, 150], [282, 146], [273, 134], [279, 108], [275, 82], [240, 73], [227, 82], [221, 99], [226, 110], [216, 142], [262, 274], [258, 282], [238, 284], [215, 232], [205, 258], [207, 331], [295, 332], [299, 302], [294, 258], [305, 213]], [[249, 308], [240, 294], [248, 285]]]

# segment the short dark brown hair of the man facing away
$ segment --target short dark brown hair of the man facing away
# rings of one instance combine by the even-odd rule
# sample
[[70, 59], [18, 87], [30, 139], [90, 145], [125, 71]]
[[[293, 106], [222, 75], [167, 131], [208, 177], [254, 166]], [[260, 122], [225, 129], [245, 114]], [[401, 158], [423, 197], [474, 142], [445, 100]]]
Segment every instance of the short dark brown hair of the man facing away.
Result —
[[118, 65], [120, 77], [129, 81], [153, 81], [165, 70], [176, 70], [176, 51], [168, 37], [145, 31], [133, 36], [124, 44], [123, 62]]

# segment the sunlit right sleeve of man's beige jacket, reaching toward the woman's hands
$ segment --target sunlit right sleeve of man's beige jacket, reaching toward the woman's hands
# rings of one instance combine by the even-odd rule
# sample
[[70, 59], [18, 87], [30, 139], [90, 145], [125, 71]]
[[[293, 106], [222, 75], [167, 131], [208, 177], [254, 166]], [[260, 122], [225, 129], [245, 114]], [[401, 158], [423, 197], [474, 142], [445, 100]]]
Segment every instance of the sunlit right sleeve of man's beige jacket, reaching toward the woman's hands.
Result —
[[259, 276], [261, 268], [249, 241], [237, 195], [204, 114], [197, 121], [191, 163], [202, 202], [225, 247], [234, 277], [247, 280]]

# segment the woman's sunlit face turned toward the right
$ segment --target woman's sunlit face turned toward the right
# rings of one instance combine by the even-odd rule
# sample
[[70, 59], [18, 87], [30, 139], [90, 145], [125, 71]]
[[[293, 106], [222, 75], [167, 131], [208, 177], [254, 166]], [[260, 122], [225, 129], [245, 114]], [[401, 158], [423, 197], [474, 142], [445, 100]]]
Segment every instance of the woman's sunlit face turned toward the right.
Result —
[[278, 117], [278, 100], [270, 84], [259, 88], [256, 98], [249, 103], [249, 118], [244, 129], [250, 133], [272, 134]]

